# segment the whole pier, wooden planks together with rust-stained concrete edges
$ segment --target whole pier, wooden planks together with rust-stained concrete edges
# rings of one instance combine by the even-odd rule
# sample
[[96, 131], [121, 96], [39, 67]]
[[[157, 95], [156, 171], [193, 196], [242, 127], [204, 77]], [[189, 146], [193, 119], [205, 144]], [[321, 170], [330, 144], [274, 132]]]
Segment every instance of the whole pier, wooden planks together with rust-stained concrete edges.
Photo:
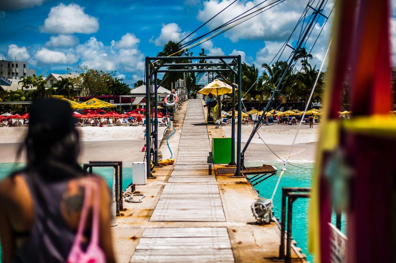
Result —
[[[210, 134], [219, 131], [205, 125], [201, 100], [183, 104], [170, 142], [175, 165], [156, 169], [156, 179], [136, 187], [147, 197], [124, 203], [127, 211], [113, 228], [118, 261], [274, 262], [279, 226], [254, 224], [250, 205], [257, 195], [250, 184], [216, 173], [225, 166], [213, 165]], [[305, 262], [298, 249], [293, 262]]]

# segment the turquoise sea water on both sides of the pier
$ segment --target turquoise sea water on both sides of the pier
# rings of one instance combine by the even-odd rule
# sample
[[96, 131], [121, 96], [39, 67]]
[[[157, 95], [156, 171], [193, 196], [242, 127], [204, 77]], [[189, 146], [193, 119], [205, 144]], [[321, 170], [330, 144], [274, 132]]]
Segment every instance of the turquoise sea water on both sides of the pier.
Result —
[[[270, 163], [276, 166], [279, 171], [282, 168], [282, 163]], [[247, 166], [261, 166], [261, 162], [246, 162]], [[312, 163], [299, 163], [296, 164], [303, 168], [293, 167], [289, 165], [287, 171], [284, 173], [282, 180], [280, 181], [278, 190], [274, 196], [274, 213], [275, 216], [281, 217], [281, 201], [282, 201], [282, 187], [311, 187], [312, 182], [312, 169], [314, 165]], [[7, 175], [9, 175], [15, 169], [20, 169], [24, 164], [20, 163], [0, 163], [0, 180]], [[93, 168], [93, 172], [101, 175], [109, 183], [112, 183], [113, 168], [108, 167], [97, 167]], [[262, 197], [270, 198], [274, 190], [277, 176], [268, 178], [267, 180], [261, 182], [259, 185], [255, 186], [259, 190]], [[132, 181], [132, 168], [123, 167], [123, 180], [122, 185], [124, 189]], [[307, 250], [307, 209], [308, 209], [308, 199], [297, 199], [293, 203], [293, 228], [292, 236], [296, 240], [297, 246], [299, 246], [303, 253], [307, 254], [307, 260], [312, 262], [312, 255], [308, 253]], [[341, 223], [341, 229], [343, 233], [346, 233], [346, 223], [345, 215], [343, 214]], [[335, 215], [332, 218], [333, 224], [335, 225]], [[1, 256], [1, 249], [0, 249]], [[1, 257], [0, 257], [1, 258]]]

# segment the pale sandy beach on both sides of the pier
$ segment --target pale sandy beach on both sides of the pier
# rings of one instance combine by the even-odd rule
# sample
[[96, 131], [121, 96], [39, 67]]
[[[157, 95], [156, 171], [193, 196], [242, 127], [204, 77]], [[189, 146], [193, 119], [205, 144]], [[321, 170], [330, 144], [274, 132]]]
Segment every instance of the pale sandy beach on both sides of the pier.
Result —
[[[297, 137], [297, 144], [293, 147], [290, 162], [312, 163], [315, 160], [316, 141], [320, 125], [313, 129], [308, 125], [301, 126]], [[223, 126], [227, 137], [231, 136], [231, 126]], [[253, 126], [242, 126], [242, 148], [247, 141]], [[0, 162], [16, 162], [17, 149], [27, 133], [27, 127], [1, 127], [0, 128]], [[141, 162], [144, 153], [141, 152], [145, 144], [145, 126], [113, 126], [113, 127], [77, 127], [80, 133], [81, 153], [79, 162], [89, 160], [121, 160], [125, 163]], [[162, 139], [164, 127], [158, 127], [158, 138]], [[259, 129], [261, 138], [282, 159], [285, 159], [297, 126], [272, 125], [262, 126]], [[236, 147], [235, 147], [236, 148]], [[169, 155], [166, 144], [162, 149], [165, 156]], [[273, 163], [281, 162], [270, 149], [259, 139], [256, 134], [245, 153], [246, 165], [249, 162]], [[24, 154], [19, 162], [25, 162]]]

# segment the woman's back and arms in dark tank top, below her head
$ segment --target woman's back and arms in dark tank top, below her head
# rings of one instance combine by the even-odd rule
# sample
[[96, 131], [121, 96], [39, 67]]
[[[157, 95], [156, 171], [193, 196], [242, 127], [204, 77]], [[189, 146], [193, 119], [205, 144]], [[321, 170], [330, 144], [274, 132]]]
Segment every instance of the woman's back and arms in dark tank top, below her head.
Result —
[[[8, 232], [9, 230], [4, 230], [8, 225], [8, 229], [11, 230], [9, 234], [15, 239], [15, 254], [7, 255], [7, 249], [4, 248], [11, 244], [3, 242], [3, 235], [1, 236], [4, 261], [66, 262], [80, 220], [86, 181], [86, 177], [83, 177], [45, 182], [40, 177], [34, 177], [33, 182], [25, 173], [3, 180], [0, 183], [0, 196], [4, 200], [1, 207], [0, 230], [2, 234]], [[101, 178], [95, 177], [94, 181], [99, 184], [99, 193], [105, 194], [98, 196], [98, 193], [91, 193], [91, 196], [99, 198], [101, 210], [107, 210], [108, 213], [110, 200], [107, 186]], [[92, 200], [89, 207], [91, 204]], [[103, 206], [104, 204], [107, 206]], [[100, 214], [103, 215], [102, 212]], [[90, 218], [91, 212], [87, 220], [86, 241], [89, 241]], [[109, 229], [109, 216], [102, 216], [100, 222], [100, 235], [105, 236], [100, 240], [109, 240], [110, 231], [106, 231]], [[4, 236], [6, 237], [7, 235]], [[112, 254], [111, 243], [110, 246], [100, 245], [105, 253], [108, 252], [106, 254]], [[108, 261], [112, 259], [109, 258]]]

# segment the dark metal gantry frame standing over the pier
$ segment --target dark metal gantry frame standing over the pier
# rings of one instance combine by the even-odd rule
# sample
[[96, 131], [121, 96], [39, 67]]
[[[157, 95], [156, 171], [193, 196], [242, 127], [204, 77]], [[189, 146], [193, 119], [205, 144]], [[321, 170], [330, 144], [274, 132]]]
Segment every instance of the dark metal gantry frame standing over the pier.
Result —
[[[220, 60], [219, 63], [166, 63], [167, 61], [180, 61], [180, 60]], [[227, 63], [225, 60], [232, 59], [231, 63]], [[152, 62], [153, 61], [153, 62]], [[147, 152], [147, 178], [151, 176], [151, 160], [152, 146], [154, 147], [154, 165], [158, 164], [158, 103], [157, 103], [157, 73], [174, 73], [174, 72], [231, 72], [233, 81], [235, 76], [238, 79], [238, 83], [232, 83], [233, 86], [238, 86], [238, 128], [237, 128], [237, 145], [236, 145], [236, 177], [241, 177], [241, 133], [242, 133], [242, 58], [241, 55], [235, 56], [147, 56], [145, 60], [145, 77], [146, 77], [146, 152]], [[225, 66], [222, 69], [165, 69], [166, 67], [196, 67], [196, 66]], [[236, 66], [238, 70], [235, 71]], [[164, 68], [164, 69], [162, 69]], [[169, 76], [169, 75], [168, 75]], [[154, 83], [150, 83], [151, 77], [154, 77]], [[154, 85], [154, 105], [150, 105], [150, 99], [152, 97], [151, 88]], [[235, 158], [235, 90], [232, 89], [232, 133], [231, 133], [231, 162], [230, 165], [234, 165]], [[154, 139], [154, 145], [151, 145], [151, 125], [152, 125], [152, 113], [151, 107], [154, 107], [154, 129], [156, 138]]]

